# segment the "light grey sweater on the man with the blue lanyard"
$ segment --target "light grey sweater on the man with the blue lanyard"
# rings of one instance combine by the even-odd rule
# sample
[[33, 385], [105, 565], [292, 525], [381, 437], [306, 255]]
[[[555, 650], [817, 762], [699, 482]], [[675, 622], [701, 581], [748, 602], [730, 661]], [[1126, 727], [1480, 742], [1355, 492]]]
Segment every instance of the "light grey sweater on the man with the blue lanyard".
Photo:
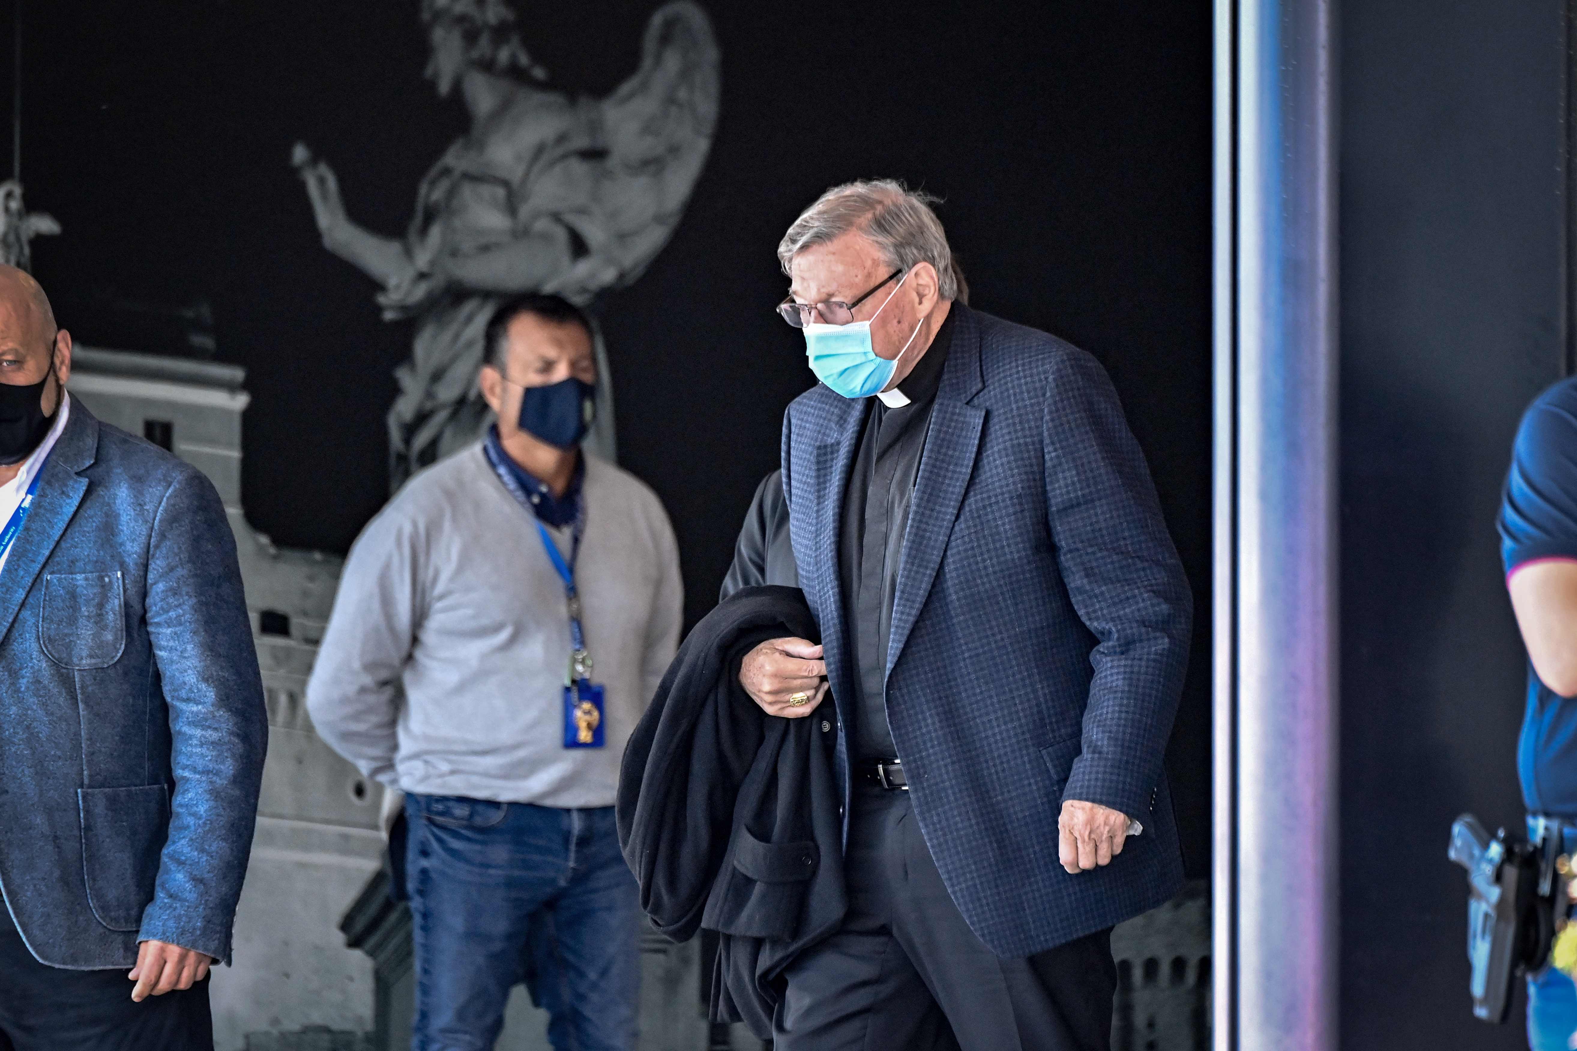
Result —
[[[565, 586], [481, 444], [415, 476], [350, 548], [308, 682], [319, 734], [407, 793], [612, 805], [678, 644], [683, 585], [656, 493], [591, 455], [582, 492], [576, 585], [606, 747], [563, 747]], [[569, 529], [549, 533], [568, 555]]]

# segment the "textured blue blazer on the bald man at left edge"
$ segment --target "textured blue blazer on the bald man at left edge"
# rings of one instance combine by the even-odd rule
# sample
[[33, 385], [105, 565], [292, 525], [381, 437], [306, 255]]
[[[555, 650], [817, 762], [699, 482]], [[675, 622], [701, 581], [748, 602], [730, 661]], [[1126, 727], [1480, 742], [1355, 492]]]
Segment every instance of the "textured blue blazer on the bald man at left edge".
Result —
[[0, 890], [57, 967], [218, 960], [268, 715], [213, 484], [80, 402], [0, 570]]

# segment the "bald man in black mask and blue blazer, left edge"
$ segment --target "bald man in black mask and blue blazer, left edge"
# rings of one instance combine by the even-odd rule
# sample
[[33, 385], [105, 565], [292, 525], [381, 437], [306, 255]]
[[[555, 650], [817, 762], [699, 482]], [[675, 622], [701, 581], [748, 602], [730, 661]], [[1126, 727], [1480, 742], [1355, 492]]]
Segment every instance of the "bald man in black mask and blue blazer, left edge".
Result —
[[0, 1048], [210, 1049], [268, 734], [235, 539], [69, 375], [0, 268]]

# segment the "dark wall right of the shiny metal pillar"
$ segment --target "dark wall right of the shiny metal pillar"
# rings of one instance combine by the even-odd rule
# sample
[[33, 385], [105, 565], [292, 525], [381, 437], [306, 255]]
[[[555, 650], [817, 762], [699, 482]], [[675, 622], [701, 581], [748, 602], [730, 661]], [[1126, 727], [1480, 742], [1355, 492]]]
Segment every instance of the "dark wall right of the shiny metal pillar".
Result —
[[1473, 1019], [1452, 818], [1522, 819], [1495, 511], [1566, 342], [1558, 0], [1342, 9], [1342, 1046]]

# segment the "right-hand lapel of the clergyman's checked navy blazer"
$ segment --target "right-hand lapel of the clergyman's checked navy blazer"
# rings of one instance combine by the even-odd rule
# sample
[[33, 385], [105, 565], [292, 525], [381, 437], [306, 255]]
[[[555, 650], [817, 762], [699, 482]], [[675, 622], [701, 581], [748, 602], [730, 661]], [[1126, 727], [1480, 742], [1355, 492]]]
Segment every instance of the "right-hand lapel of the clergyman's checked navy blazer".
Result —
[[941, 372], [941, 386], [930, 410], [930, 429], [919, 457], [915, 496], [910, 501], [904, 553], [893, 596], [893, 635], [888, 640], [886, 670], [891, 674], [904, 643], [926, 605], [930, 581], [937, 577], [941, 553], [959, 517], [964, 490], [975, 471], [986, 410], [970, 405], [986, 386], [981, 372], [979, 323], [964, 304], [953, 304], [953, 347]]

